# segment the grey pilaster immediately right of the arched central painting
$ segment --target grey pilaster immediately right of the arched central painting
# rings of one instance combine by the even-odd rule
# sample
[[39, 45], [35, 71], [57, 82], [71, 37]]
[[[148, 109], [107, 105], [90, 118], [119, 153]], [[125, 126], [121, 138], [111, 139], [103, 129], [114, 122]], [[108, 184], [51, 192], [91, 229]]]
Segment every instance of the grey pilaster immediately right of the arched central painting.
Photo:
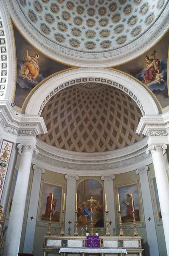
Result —
[[[101, 176], [101, 180], [104, 180], [104, 193], [106, 194], [106, 198], [107, 198], [107, 210], [109, 211], [109, 220], [112, 222], [112, 225], [109, 226], [111, 235], [113, 235], [113, 227], [115, 227], [115, 205], [114, 205], [114, 190], [113, 190], [114, 179], [115, 179], [115, 175]], [[106, 210], [105, 200], [104, 200], [104, 209]]]

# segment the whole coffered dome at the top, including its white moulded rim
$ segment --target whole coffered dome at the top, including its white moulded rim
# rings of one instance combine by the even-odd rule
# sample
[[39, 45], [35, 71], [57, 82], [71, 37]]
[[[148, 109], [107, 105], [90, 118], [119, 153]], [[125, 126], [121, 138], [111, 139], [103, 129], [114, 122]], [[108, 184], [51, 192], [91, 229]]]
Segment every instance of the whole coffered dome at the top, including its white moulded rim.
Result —
[[[102, 58], [104, 63], [105, 59], [110, 58], [113, 64], [115, 60], [122, 63], [123, 60], [120, 60], [119, 56], [124, 53], [127, 56], [127, 52], [133, 51], [136, 46], [143, 50], [143, 43], [146, 43], [146, 47], [149, 43], [155, 42], [159, 32], [158, 26], [162, 26], [162, 21], [166, 18], [165, 7], [168, 1], [16, 0], [14, 2], [10, 0], [10, 2], [13, 2], [17, 12], [19, 11], [17, 20], [21, 18], [24, 20], [22, 27], [21, 22], [16, 20], [19, 29], [22, 30], [27, 24], [23, 31], [24, 35], [28, 33], [27, 39], [36, 46], [43, 44], [46, 54], [49, 50], [53, 58], [62, 57], [67, 61], [67, 55], [70, 55], [69, 60], [75, 57], [82, 63], [85, 58], [89, 63], [90, 59], [98, 61], [98, 58]], [[12, 11], [11, 15], [14, 17], [16, 14]], [[160, 32], [165, 32], [165, 29], [161, 29]], [[153, 36], [153, 41], [150, 36]], [[135, 48], [135, 55], [140, 53], [138, 48]], [[118, 60], [115, 58], [116, 55]]]

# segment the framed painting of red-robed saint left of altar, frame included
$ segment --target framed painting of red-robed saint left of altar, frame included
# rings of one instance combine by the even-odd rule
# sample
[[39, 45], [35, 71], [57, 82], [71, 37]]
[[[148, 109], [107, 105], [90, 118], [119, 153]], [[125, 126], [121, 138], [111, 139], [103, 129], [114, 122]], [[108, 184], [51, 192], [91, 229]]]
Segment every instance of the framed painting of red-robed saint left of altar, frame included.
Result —
[[[65, 185], [42, 180], [41, 191], [39, 197], [37, 224], [46, 226], [50, 218], [50, 210], [52, 208], [52, 223], [58, 227], [61, 223], [63, 193]], [[53, 197], [52, 197], [53, 194]]]

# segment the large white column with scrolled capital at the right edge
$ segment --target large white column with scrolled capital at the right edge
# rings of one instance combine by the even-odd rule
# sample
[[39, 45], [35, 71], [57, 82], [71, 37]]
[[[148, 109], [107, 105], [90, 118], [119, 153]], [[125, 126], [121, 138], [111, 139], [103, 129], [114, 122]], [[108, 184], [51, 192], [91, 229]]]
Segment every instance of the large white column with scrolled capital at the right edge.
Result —
[[158, 196], [161, 207], [161, 215], [163, 220], [163, 230], [166, 241], [167, 255], [169, 256], [169, 179], [166, 173], [166, 167], [163, 159], [163, 150], [167, 146], [163, 145], [149, 145], [146, 154], [152, 153], [152, 160], [155, 170], [155, 178], [158, 188]]

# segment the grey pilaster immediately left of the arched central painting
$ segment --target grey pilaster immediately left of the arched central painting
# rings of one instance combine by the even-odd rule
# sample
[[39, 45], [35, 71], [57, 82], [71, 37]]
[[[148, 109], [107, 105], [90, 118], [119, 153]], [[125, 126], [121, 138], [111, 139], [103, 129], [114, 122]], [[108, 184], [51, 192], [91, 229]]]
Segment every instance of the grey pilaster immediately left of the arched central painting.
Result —
[[[65, 175], [65, 178], [67, 179], [65, 235], [68, 234], [68, 227], [71, 228], [71, 235], [73, 235], [75, 225], [76, 180], [79, 180], [79, 177], [73, 175]], [[71, 221], [72, 223], [69, 225], [68, 221]]]

